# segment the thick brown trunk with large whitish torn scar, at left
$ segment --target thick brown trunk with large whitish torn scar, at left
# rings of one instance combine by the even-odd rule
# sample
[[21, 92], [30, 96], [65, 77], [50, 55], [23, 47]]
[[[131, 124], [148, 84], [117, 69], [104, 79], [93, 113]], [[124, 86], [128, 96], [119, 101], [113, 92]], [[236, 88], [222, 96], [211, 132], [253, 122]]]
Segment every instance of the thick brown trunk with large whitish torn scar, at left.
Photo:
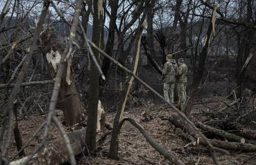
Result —
[[[54, 78], [61, 60], [63, 46], [59, 43], [53, 31], [41, 35], [40, 49], [45, 57], [50, 77]], [[66, 125], [74, 125], [84, 118], [84, 108], [70, 69], [69, 60], [65, 63], [62, 75], [61, 88], [59, 90], [59, 103], [64, 113]]]

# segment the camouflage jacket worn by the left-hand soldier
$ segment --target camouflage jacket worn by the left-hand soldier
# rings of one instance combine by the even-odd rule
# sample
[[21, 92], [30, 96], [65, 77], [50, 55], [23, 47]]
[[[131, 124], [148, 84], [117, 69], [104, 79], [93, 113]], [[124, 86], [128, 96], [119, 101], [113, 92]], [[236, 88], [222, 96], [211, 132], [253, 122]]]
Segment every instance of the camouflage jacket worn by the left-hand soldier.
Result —
[[165, 62], [162, 72], [163, 82], [175, 82], [177, 75], [177, 63], [175, 59], [170, 59]]

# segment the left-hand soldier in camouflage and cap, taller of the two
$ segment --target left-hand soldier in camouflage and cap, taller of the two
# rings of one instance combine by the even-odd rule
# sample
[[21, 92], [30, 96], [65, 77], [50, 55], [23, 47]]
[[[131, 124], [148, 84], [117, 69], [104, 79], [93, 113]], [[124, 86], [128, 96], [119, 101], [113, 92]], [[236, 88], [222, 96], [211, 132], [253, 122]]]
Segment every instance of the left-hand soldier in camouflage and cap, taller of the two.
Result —
[[177, 63], [171, 54], [166, 56], [166, 61], [162, 72], [164, 99], [173, 104], [173, 90], [176, 82]]

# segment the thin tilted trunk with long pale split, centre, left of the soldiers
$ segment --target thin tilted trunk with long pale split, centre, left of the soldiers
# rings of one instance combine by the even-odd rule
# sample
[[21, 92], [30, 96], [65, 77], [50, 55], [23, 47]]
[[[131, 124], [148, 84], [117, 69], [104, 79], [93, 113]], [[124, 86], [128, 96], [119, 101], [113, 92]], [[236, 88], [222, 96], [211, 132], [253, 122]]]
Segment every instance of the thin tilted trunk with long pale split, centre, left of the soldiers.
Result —
[[[145, 17], [144, 17], [145, 19]], [[142, 22], [144, 21], [142, 19]], [[135, 41], [135, 53], [134, 53], [134, 58], [133, 58], [133, 74], [136, 74], [137, 72], [137, 66], [139, 62], [139, 54], [140, 54], [140, 40], [142, 37], [142, 30], [145, 27], [145, 23], [142, 23], [139, 25], [138, 28], [138, 35], [136, 37]], [[132, 82], [134, 81], [134, 77], [130, 76], [127, 78], [129, 80], [128, 83], [124, 85], [124, 88], [122, 89], [121, 96], [120, 96], [120, 103], [116, 112], [116, 117], [114, 118], [114, 126], [113, 126], [113, 133], [111, 137], [111, 144], [109, 148], [109, 154], [108, 157], [111, 159], [118, 159], [118, 138], [119, 138], [119, 132], [121, 129], [120, 121], [123, 116], [124, 108], [126, 107], [126, 101], [127, 101], [127, 96], [129, 95], [130, 87], [132, 86]]]

